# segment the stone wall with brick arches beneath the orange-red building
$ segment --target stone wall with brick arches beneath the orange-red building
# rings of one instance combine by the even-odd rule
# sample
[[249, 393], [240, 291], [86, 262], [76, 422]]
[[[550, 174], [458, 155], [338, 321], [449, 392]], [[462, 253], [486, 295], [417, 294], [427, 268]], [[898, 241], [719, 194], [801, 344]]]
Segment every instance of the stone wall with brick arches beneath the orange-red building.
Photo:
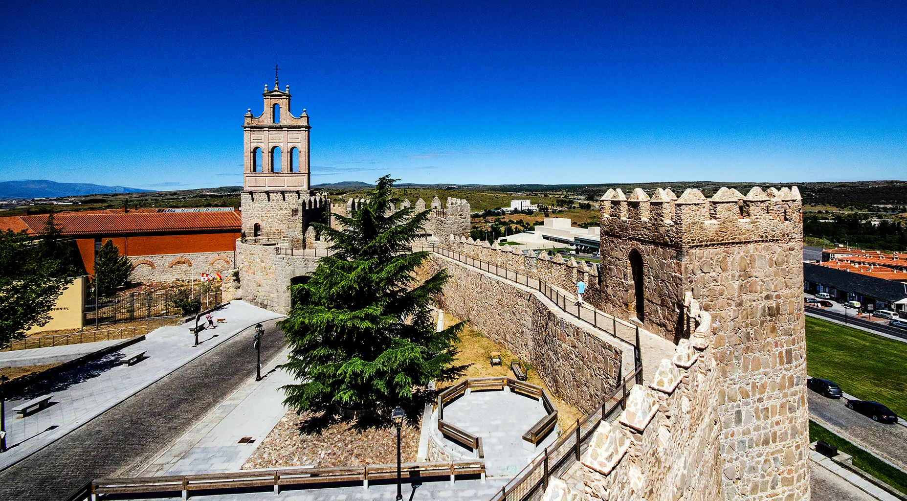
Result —
[[233, 251], [130, 256], [129, 260], [134, 267], [129, 280], [135, 282], [198, 279], [202, 273], [223, 275], [233, 269]]

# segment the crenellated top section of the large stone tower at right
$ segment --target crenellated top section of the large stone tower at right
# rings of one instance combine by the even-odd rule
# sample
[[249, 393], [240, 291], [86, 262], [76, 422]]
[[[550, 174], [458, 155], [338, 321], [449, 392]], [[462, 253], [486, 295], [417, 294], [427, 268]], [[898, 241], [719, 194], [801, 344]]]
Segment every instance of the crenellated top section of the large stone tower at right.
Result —
[[601, 199], [602, 236], [645, 241], [677, 249], [752, 241], [803, 238], [803, 200], [796, 186], [758, 186], [746, 195], [723, 187], [712, 198], [689, 188], [679, 197], [658, 188], [649, 196], [609, 190]]

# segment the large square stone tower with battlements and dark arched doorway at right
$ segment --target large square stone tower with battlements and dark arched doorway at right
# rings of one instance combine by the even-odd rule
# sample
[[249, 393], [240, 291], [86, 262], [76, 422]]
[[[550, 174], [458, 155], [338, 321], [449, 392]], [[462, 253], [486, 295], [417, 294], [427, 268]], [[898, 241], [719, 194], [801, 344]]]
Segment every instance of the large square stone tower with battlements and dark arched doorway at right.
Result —
[[603, 200], [610, 211], [602, 210], [601, 225], [606, 311], [639, 318], [633, 251], [643, 262], [647, 329], [675, 341], [688, 336], [688, 291], [711, 314], [716, 333], [723, 496], [806, 499], [799, 194], [795, 188], [754, 188], [743, 197], [723, 188], [711, 200], [696, 190], [672, 196], [659, 190], [651, 199], [656, 204], [635, 190], [629, 199], [615, 192]]

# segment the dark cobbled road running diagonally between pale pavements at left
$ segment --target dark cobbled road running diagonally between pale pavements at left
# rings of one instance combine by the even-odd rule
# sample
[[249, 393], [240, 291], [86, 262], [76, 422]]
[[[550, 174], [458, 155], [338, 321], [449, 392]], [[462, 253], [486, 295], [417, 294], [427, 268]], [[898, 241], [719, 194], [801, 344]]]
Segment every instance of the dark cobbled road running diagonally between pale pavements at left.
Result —
[[[275, 321], [265, 323], [262, 363], [284, 347]], [[95, 477], [159, 453], [210, 408], [255, 374], [253, 329], [246, 329], [169, 376], [0, 473], [0, 499], [66, 499]]]

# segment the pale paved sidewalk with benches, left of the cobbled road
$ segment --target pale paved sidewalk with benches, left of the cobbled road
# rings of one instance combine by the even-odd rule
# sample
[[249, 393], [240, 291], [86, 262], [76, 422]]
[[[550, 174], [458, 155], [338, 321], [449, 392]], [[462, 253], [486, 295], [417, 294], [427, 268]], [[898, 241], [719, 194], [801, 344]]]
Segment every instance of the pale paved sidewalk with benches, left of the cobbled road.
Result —
[[[233, 301], [218, 311], [227, 319], [215, 329], [200, 332], [200, 345], [192, 348], [186, 326], [162, 327], [126, 350], [145, 351], [146, 359], [122, 366], [122, 352], [111, 353], [27, 388], [6, 401], [6, 444], [0, 455], [0, 471], [81, 427], [93, 417], [167, 376], [202, 353], [258, 322], [280, 315], [242, 301]], [[31, 416], [16, 418], [13, 408], [24, 400], [53, 395], [51, 407]]]

